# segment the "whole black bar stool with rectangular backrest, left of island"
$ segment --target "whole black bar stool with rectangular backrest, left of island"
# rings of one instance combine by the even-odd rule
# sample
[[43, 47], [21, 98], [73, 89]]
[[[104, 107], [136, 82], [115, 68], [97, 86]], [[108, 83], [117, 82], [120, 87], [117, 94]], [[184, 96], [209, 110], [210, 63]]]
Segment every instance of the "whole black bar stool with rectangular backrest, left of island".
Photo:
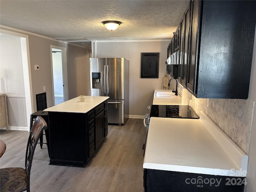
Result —
[[[47, 108], [46, 104], [46, 93], [41, 93], [41, 94], [36, 94], [36, 108], [37, 112], [34, 112], [30, 115], [30, 130], [33, 126], [33, 122], [36, 119], [37, 116], [41, 116], [47, 123], [48, 125], [48, 112], [43, 111], [44, 109]], [[42, 149], [43, 144], [47, 145], [48, 149], [48, 155], [50, 157], [50, 147], [49, 147], [49, 126], [48, 129], [44, 130], [45, 132], [45, 137], [46, 137], [46, 143], [43, 142], [43, 134], [40, 136], [40, 147]]]

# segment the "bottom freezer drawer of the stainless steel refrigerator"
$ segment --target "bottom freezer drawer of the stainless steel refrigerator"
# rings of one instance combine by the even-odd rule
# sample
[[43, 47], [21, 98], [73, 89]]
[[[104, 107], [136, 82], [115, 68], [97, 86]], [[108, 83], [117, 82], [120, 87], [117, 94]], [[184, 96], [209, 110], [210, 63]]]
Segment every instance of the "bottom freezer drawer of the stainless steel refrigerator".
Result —
[[108, 123], [124, 124], [124, 100], [108, 100]]

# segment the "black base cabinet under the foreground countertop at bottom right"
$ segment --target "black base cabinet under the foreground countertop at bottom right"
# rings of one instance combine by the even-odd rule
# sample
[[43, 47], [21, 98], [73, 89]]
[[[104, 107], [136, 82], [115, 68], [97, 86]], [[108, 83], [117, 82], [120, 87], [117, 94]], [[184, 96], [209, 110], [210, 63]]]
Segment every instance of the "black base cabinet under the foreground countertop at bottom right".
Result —
[[144, 192], [244, 192], [246, 178], [144, 169]]

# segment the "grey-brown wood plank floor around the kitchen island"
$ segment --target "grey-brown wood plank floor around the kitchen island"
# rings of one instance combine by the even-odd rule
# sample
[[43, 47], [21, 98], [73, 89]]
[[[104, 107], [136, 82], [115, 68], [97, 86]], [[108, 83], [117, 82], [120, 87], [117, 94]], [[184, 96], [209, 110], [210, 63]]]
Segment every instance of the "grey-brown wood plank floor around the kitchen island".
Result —
[[[46, 145], [36, 147], [30, 176], [31, 192], [143, 192], [142, 119], [109, 125], [106, 140], [85, 168], [49, 165]], [[24, 167], [27, 131], [0, 130], [6, 152], [0, 168]]]

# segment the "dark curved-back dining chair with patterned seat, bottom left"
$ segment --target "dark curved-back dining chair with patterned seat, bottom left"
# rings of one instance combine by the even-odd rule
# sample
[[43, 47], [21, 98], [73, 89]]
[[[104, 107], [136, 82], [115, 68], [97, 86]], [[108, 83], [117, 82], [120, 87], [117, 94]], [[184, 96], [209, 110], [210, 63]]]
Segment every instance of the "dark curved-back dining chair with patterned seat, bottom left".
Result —
[[47, 129], [45, 120], [38, 116], [30, 130], [25, 156], [25, 168], [0, 169], [0, 192], [30, 192], [30, 170], [36, 144], [43, 130]]

